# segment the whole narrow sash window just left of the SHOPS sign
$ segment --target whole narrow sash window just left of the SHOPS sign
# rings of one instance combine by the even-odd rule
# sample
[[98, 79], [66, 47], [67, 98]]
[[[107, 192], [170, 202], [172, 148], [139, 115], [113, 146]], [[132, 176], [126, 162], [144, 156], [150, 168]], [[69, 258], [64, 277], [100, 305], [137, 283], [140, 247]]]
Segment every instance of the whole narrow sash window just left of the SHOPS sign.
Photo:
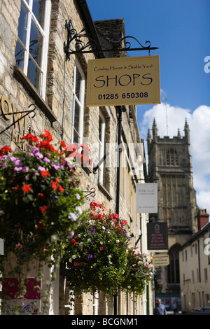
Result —
[[83, 143], [85, 76], [78, 62], [73, 69], [72, 131], [71, 142]]

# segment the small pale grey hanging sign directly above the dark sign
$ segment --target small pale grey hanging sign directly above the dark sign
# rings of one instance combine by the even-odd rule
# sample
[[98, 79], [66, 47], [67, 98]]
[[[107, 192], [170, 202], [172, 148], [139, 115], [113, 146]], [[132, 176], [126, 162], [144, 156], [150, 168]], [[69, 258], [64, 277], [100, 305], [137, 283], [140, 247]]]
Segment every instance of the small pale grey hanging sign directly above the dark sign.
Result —
[[158, 213], [158, 183], [138, 183], [136, 186], [137, 213]]

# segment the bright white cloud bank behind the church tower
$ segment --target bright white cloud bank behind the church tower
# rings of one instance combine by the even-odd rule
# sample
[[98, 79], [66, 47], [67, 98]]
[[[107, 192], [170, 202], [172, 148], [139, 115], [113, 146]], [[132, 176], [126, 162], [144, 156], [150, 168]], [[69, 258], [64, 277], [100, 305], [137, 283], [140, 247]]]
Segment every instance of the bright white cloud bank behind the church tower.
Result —
[[[145, 140], [148, 129], [152, 129], [153, 119], [157, 123], [158, 136], [174, 137], [180, 130], [184, 136], [186, 119], [190, 128], [190, 153], [193, 163], [193, 184], [196, 190], [197, 205], [210, 214], [210, 107], [199, 106], [195, 111], [181, 109], [170, 104], [158, 104], [144, 113], [140, 136]], [[146, 148], [147, 153], [147, 148]]]

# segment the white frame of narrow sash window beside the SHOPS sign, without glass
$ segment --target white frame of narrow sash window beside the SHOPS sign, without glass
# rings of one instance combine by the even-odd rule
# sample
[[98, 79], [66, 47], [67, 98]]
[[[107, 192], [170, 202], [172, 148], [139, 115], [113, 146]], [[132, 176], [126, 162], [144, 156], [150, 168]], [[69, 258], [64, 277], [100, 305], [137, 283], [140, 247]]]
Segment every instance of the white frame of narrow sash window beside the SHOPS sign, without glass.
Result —
[[[76, 70], [79, 71], [81, 80], [80, 80], [80, 99], [76, 96]], [[71, 120], [72, 120], [72, 130], [71, 130], [71, 143], [75, 143], [74, 141], [74, 132], [78, 134], [78, 144], [83, 144], [83, 124], [84, 124], [84, 103], [85, 103], [85, 75], [83, 70], [76, 60], [73, 68], [73, 98], [72, 98], [72, 106], [71, 106]], [[74, 126], [74, 117], [75, 117], [75, 106], [76, 104], [79, 106], [79, 124], [78, 131]]]

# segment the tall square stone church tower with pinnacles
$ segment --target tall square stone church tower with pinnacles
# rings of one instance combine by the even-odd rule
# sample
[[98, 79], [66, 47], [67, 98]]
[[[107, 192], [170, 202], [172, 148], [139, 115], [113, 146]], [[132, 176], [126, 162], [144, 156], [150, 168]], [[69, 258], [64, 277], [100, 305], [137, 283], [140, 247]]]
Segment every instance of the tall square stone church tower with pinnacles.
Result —
[[[179, 248], [197, 232], [196, 197], [190, 155], [190, 130], [186, 120], [184, 136], [158, 136], [153, 120], [148, 145], [148, 181], [158, 183], [158, 214], [150, 221], [167, 222], [170, 264], [162, 269], [163, 292], [179, 292]], [[165, 290], [165, 291], [164, 291]]]

